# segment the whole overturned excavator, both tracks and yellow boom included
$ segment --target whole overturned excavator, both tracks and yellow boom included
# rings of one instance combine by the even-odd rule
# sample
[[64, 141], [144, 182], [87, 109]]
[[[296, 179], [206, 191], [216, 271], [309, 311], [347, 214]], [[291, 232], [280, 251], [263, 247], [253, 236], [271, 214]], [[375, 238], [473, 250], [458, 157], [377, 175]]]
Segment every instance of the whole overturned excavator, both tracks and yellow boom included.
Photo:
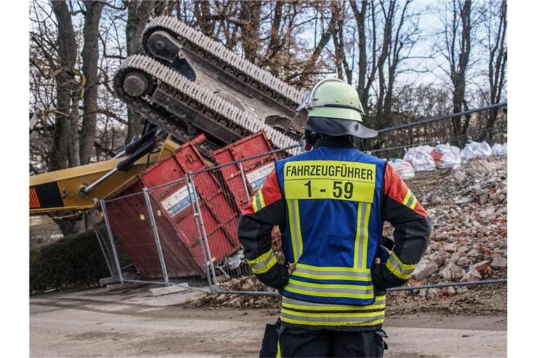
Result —
[[300, 151], [303, 92], [173, 17], [152, 20], [142, 44], [146, 55], [124, 59], [114, 88], [152, 123], [113, 159], [31, 176], [31, 214], [87, 210], [199, 134], [206, 140], [196, 146], [207, 159], [261, 129], [275, 148]]

